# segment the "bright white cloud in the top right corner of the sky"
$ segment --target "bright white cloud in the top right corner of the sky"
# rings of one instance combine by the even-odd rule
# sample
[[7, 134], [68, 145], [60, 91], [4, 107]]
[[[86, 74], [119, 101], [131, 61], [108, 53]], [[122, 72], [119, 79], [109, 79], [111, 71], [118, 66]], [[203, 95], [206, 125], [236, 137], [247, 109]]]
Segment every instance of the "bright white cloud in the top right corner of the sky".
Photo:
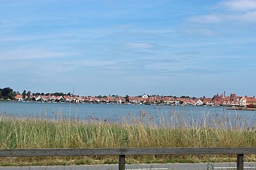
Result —
[[231, 10], [238, 11], [255, 11], [256, 10], [256, 1], [255, 0], [229, 0], [222, 1], [221, 6], [224, 6]]

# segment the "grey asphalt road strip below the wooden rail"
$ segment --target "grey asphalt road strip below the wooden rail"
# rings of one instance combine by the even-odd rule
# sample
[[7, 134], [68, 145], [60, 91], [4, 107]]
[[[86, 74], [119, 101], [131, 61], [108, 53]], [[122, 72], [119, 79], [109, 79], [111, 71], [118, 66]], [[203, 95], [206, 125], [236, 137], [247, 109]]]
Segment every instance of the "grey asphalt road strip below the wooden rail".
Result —
[[[256, 162], [245, 162], [245, 169], [256, 169]], [[118, 165], [97, 165], [97, 166], [18, 166], [0, 167], [1, 170], [114, 170]], [[199, 164], [130, 164], [126, 170], [168, 170], [168, 169], [236, 169], [236, 163], [199, 163]]]

